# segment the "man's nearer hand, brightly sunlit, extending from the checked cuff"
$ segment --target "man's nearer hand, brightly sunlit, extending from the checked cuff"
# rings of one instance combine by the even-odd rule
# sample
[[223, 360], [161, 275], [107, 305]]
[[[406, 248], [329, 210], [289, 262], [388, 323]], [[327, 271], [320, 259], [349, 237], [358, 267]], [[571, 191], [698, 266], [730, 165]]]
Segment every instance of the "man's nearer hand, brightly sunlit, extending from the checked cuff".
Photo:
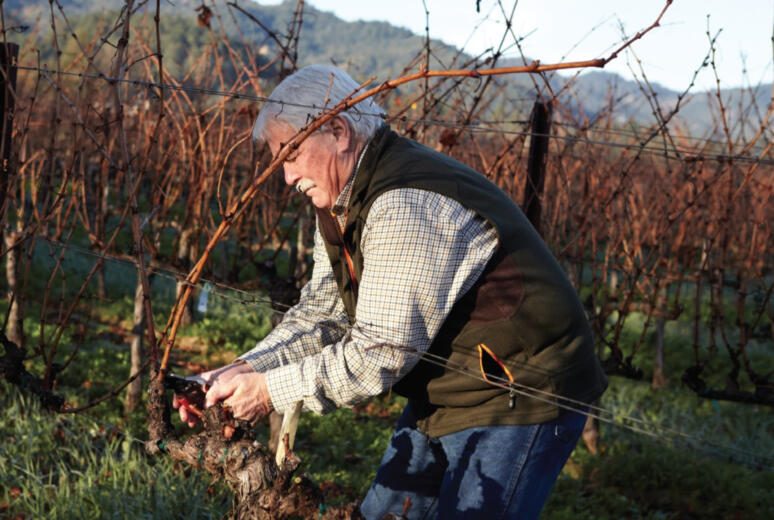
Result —
[[272, 410], [263, 372], [251, 371], [249, 374], [236, 374], [228, 380], [216, 380], [207, 392], [205, 406], [210, 407], [218, 401], [223, 401], [235, 418], [251, 423]]

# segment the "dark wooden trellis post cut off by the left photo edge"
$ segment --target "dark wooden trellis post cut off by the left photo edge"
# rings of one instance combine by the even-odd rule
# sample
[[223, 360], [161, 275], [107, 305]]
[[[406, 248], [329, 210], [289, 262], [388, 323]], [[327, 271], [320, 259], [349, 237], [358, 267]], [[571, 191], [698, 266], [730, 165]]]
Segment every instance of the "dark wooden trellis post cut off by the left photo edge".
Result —
[[[19, 46], [0, 43], [0, 215], [5, 217], [8, 177], [10, 173], [11, 134], [13, 134], [13, 95], [16, 89], [16, 58]], [[5, 222], [5, 218], [3, 218]]]

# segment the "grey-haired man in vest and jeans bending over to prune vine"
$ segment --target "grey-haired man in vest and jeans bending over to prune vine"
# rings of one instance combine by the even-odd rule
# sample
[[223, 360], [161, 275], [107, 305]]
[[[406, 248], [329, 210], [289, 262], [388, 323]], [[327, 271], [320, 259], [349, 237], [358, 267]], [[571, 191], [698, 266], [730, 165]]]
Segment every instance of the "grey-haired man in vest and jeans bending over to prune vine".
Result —
[[[276, 155], [310, 107], [357, 88], [305, 67], [253, 136]], [[406, 497], [409, 518], [535, 518], [583, 429], [566, 408], [607, 384], [583, 308], [505, 193], [382, 115], [363, 101], [285, 160], [285, 181], [317, 208], [314, 273], [263, 341], [204, 375], [207, 405], [247, 420], [298, 401], [324, 414], [391, 388], [408, 405], [367, 518], [399, 515]]]

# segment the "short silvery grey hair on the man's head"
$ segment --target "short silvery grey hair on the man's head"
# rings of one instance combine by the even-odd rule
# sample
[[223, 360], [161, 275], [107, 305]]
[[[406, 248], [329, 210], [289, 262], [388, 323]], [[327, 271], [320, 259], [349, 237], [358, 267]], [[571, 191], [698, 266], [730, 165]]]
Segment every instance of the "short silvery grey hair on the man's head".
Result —
[[[324, 108], [335, 106], [359, 87], [349, 74], [331, 65], [309, 65], [299, 69], [282, 80], [269, 96], [270, 101], [264, 104], [255, 120], [253, 139], [265, 140], [268, 127], [277, 121], [298, 130]], [[328, 102], [323, 106], [326, 98]], [[356, 139], [365, 141], [382, 125], [384, 110], [368, 98], [339, 116], [349, 124]]]

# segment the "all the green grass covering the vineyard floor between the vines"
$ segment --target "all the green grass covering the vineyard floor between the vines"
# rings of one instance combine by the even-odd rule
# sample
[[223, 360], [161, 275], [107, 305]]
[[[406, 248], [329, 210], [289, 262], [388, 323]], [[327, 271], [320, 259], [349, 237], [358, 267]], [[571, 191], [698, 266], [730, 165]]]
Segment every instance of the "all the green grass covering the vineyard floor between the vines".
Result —
[[[69, 257], [68, 265], [81, 273], [88, 268]], [[135, 274], [131, 266], [110, 269], [108, 293], [123, 296], [88, 312], [79, 311], [75, 326], [62, 339], [57, 360], [71, 352], [78, 326], [89, 332], [75, 362], [58, 380], [57, 391], [70, 402], [88, 402], [128, 375], [127, 334]], [[35, 271], [33, 275], [31, 280], [47, 277]], [[68, 279], [78, 277], [68, 275]], [[163, 324], [174, 285], [162, 277], [152, 284], [155, 321]], [[7, 302], [0, 302], [0, 312], [6, 306]], [[40, 312], [34, 301], [28, 300], [28, 306], [32, 310], [27, 312], [25, 330], [28, 345], [34, 345], [39, 341]], [[211, 295], [206, 313], [180, 332], [182, 341], [201, 348], [178, 351], [176, 369], [187, 372], [227, 362], [268, 332], [269, 316], [265, 306]], [[636, 313], [627, 318], [621, 336], [625, 352], [639, 338], [643, 322]], [[619, 420], [640, 418], [710, 443], [664, 444], [603, 425], [601, 453], [591, 455], [582, 444], [576, 448], [542, 518], [774, 518], [774, 463], [769, 462], [767, 470], [740, 464], [774, 459], [774, 413], [766, 407], [700, 399], [681, 388], [682, 370], [693, 363], [686, 339], [691, 337], [690, 329], [688, 323], [667, 323], [668, 388], [654, 391], [646, 382], [612, 378], [601, 406], [613, 410]], [[46, 337], [51, 331], [47, 325]], [[643, 368], [644, 381], [652, 373], [653, 344], [646, 337], [633, 360]], [[757, 366], [774, 367], [772, 353], [770, 342], [749, 347]], [[717, 385], [723, 383], [725, 366], [720, 354], [709, 367], [715, 374], [710, 382]], [[41, 373], [39, 358], [28, 364], [34, 373]], [[296, 451], [302, 470], [325, 491], [327, 502], [364, 496], [403, 404], [394, 396], [380, 397], [356, 410], [302, 417]], [[90, 410], [90, 417], [53, 415], [2, 380], [0, 406], [5, 411], [0, 416], [4, 441], [0, 444], [0, 519], [219, 518], [230, 507], [228, 491], [211, 484], [207, 475], [165, 457], [144, 454], [143, 408], [127, 416], [121, 400], [114, 399]], [[266, 425], [259, 425], [257, 433], [259, 439], [268, 440]]]

